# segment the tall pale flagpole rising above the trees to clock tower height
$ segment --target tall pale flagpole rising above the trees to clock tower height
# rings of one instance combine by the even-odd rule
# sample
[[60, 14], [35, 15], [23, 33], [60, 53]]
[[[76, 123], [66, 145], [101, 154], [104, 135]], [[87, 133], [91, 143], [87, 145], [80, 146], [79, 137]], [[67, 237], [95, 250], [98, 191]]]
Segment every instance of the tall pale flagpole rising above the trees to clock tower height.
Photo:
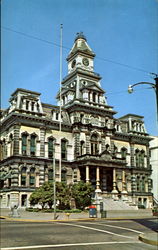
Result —
[[[62, 82], [62, 61], [63, 61], [63, 58], [62, 58], [62, 43], [63, 43], [63, 25], [60, 24], [60, 111], [59, 111], [59, 134], [60, 134], [60, 151], [61, 151], [61, 82]], [[61, 182], [61, 152], [60, 152], [60, 155], [59, 155], [59, 182]]]

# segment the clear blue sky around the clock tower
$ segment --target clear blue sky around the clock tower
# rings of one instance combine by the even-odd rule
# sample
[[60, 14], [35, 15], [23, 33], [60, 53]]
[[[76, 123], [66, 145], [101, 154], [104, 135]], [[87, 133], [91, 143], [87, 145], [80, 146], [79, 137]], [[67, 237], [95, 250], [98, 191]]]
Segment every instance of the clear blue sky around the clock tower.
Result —
[[158, 135], [158, 0], [2, 0], [1, 108], [17, 88], [41, 93], [56, 105], [60, 82], [60, 25], [63, 24], [62, 77], [77, 32], [96, 54], [94, 71], [102, 77], [108, 105], [118, 113], [144, 116], [147, 132]]

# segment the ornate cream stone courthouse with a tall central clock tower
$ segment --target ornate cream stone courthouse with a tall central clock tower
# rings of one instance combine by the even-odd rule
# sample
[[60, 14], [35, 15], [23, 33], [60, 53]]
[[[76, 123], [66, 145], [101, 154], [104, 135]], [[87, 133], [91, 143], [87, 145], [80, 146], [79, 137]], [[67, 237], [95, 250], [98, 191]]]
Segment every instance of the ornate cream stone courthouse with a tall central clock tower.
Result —
[[[152, 207], [150, 137], [143, 117], [115, 118], [94, 71], [95, 54], [78, 33], [67, 57], [61, 107], [18, 88], [1, 111], [1, 206], [29, 206], [35, 188], [53, 180], [90, 182], [100, 197]], [[60, 115], [61, 114], [61, 115]]]

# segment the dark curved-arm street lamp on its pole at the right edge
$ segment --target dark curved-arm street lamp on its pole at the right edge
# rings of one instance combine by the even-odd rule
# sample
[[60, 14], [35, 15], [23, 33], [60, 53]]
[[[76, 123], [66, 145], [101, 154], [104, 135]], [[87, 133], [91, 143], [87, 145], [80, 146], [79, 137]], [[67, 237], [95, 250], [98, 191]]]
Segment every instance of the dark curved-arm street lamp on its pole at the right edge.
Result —
[[142, 84], [147, 84], [150, 85], [154, 90], [156, 94], [156, 106], [157, 106], [157, 122], [158, 122], [158, 75], [155, 75], [156, 77], [154, 78], [155, 83], [150, 83], [150, 82], [138, 82], [133, 85], [128, 86], [128, 93], [131, 94], [133, 92], [133, 88], [137, 85], [142, 85]]

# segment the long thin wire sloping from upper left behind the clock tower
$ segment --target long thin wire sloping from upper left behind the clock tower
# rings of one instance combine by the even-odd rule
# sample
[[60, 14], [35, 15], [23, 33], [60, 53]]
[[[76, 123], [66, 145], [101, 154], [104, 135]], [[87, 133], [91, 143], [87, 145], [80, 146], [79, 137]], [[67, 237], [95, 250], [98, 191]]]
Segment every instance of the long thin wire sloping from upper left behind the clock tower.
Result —
[[[39, 38], [39, 37], [36, 37], [36, 36], [33, 36], [33, 35], [29, 35], [29, 34], [26, 34], [24, 32], [16, 31], [16, 30], [13, 30], [11, 28], [4, 27], [4, 26], [2, 26], [1, 28], [5, 29], [5, 30], [8, 30], [8, 31], [11, 31], [11, 32], [14, 32], [14, 33], [17, 33], [19, 35], [23, 35], [23, 36], [28, 37], [28, 38], [32, 38], [32, 39], [35, 39], [35, 40], [38, 40], [38, 41], [41, 41], [41, 42], [44, 42], [44, 43], [47, 43], [47, 44], [51, 44], [51, 45], [60, 47], [60, 44], [57, 44], [57, 43], [54, 43], [54, 42], [50, 42], [50, 41], [47, 41], [45, 39], [42, 39], [42, 38]], [[66, 47], [66, 46], [62, 46], [62, 48], [67, 49], [67, 50], [71, 50], [71, 48]], [[144, 72], [144, 73], [153, 74], [153, 73], [151, 73], [151, 72], [149, 72], [147, 70], [144, 70], [144, 69], [141, 69], [141, 68], [137, 68], [137, 67], [133, 67], [133, 66], [130, 66], [128, 64], [116, 62], [116, 61], [113, 61], [111, 59], [106, 59], [106, 58], [102, 58], [102, 57], [98, 57], [98, 56], [96, 56], [96, 58], [99, 59], [99, 60], [102, 60], [102, 61], [107, 61], [107, 62], [110, 62], [110, 63], [113, 63], [113, 64], [117, 64], [117, 65], [129, 68], [129, 69], [132, 69], [132, 70], [137, 70], [137, 71], [141, 71], [141, 72]]]

